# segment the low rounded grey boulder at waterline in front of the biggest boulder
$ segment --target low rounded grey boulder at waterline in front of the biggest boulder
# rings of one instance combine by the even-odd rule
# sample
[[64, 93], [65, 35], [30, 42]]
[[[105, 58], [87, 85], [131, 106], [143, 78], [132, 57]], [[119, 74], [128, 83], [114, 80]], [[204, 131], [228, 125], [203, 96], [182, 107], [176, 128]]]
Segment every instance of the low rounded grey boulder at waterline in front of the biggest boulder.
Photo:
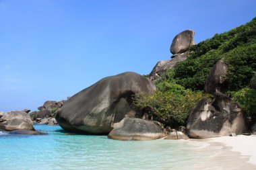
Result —
[[139, 118], [124, 118], [108, 134], [108, 138], [115, 140], [154, 140], [164, 136], [166, 134], [158, 124]]

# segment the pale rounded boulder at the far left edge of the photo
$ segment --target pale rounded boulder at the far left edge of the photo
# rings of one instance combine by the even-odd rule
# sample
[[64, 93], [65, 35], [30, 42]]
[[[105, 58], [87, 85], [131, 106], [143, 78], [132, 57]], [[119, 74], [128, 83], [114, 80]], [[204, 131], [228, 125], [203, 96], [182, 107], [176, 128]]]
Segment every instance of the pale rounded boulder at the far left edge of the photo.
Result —
[[23, 111], [1, 114], [0, 130], [34, 130], [30, 115]]

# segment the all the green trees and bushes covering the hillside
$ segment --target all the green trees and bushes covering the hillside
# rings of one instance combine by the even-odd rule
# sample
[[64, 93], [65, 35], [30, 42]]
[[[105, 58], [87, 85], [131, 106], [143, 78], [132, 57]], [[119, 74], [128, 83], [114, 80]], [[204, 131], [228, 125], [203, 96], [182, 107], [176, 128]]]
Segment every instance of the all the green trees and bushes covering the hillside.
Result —
[[156, 93], [136, 95], [135, 104], [141, 108], [150, 106], [154, 114], [169, 123], [185, 124], [196, 102], [206, 96], [205, 80], [220, 59], [228, 65], [223, 92], [232, 95], [248, 116], [256, 116], [256, 17], [191, 46], [187, 60], [155, 82]]

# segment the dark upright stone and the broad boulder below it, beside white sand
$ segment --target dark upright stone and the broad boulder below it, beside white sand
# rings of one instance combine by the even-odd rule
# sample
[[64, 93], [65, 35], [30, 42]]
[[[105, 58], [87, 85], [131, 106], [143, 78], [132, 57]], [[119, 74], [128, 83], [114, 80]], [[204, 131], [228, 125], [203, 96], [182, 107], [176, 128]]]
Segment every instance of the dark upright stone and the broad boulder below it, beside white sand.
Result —
[[227, 67], [219, 60], [207, 77], [205, 91], [214, 95], [197, 102], [189, 114], [187, 134], [191, 138], [212, 138], [241, 134], [247, 130], [247, 121], [240, 106], [220, 91], [224, 85]]

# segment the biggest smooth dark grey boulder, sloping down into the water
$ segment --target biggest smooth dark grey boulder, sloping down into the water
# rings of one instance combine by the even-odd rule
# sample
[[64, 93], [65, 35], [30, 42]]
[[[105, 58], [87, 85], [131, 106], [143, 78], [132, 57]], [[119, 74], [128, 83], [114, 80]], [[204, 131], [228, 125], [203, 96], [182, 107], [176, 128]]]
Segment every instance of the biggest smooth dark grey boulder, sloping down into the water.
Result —
[[156, 90], [152, 81], [133, 72], [106, 77], [73, 95], [57, 111], [59, 125], [67, 131], [108, 134], [113, 124], [135, 117], [133, 94]]

